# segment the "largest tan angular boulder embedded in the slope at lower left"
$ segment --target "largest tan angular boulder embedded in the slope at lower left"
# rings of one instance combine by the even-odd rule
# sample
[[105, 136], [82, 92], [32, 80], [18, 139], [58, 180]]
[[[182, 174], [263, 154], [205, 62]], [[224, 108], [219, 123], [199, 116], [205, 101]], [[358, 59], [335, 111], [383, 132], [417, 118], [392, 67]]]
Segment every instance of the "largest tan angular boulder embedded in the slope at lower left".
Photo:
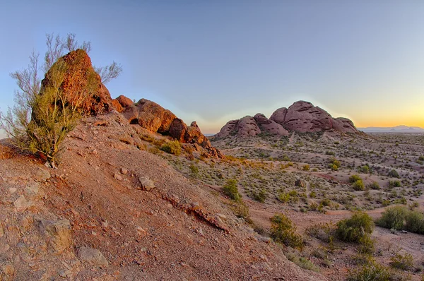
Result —
[[71, 225], [69, 220], [37, 220], [40, 232], [47, 239], [50, 251], [61, 253], [71, 246]]

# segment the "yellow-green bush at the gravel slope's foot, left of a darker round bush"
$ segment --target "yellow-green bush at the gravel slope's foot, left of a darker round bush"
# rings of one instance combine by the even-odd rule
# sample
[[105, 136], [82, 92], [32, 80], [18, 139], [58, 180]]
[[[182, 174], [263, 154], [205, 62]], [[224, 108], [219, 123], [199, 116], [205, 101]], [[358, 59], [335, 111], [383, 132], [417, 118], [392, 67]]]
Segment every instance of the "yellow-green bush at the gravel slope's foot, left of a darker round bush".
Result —
[[271, 217], [271, 238], [285, 246], [302, 249], [304, 241], [300, 234], [296, 233], [293, 222], [283, 214]]

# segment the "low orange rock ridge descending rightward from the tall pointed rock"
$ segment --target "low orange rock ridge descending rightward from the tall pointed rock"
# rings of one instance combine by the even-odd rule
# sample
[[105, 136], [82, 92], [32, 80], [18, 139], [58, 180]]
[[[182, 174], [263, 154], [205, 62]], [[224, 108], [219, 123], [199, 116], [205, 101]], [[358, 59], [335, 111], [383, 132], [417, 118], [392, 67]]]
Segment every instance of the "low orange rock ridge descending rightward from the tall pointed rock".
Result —
[[187, 126], [182, 119], [177, 118], [170, 110], [146, 99], [141, 99], [134, 104], [129, 98], [119, 96], [117, 102], [124, 108], [122, 114], [129, 120], [130, 124], [139, 124], [148, 131], [171, 136], [181, 143], [193, 144], [194, 148], [200, 146], [206, 150], [208, 156], [223, 157], [223, 154], [214, 148], [208, 138], [201, 133], [196, 121]]

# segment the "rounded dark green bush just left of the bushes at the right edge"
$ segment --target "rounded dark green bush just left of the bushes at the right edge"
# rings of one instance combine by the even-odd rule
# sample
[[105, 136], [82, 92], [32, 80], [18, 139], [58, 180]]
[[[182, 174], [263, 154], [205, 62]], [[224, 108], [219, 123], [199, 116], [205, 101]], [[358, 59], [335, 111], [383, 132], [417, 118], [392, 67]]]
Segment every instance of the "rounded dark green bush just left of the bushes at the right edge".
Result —
[[373, 229], [372, 218], [367, 213], [356, 212], [350, 218], [337, 222], [336, 234], [341, 241], [358, 243]]

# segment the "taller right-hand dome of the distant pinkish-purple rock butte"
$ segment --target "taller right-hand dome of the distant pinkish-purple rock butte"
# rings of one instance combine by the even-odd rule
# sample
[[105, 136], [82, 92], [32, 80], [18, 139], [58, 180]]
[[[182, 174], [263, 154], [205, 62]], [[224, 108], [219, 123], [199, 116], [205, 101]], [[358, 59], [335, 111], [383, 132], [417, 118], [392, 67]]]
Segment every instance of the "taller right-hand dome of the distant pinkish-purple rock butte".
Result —
[[270, 117], [289, 131], [299, 133], [319, 132], [334, 129], [340, 133], [358, 133], [353, 122], [346, 118], [334, 119], [320, 107], [310, 102], [299, 101], [290, 107], [277, 109]]

